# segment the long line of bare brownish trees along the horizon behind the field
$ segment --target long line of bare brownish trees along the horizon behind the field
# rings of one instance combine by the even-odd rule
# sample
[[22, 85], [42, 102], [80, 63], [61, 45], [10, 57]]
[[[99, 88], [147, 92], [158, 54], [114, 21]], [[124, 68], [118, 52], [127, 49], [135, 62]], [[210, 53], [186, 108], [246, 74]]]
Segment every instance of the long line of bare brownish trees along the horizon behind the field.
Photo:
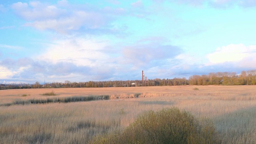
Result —
[[99, 87], [130, 87], [130, 86], [182, 86], [182, 85], [255, 85], [256, 70], [236, 72], [212, 72], [204, 75], [193, 75], [186, 78], [148, 79], [142, 80], [115, 80], [89, 82], [46, 82], [40, 84], [1, 84], [0, 89], [16, 88], [99, 88]]

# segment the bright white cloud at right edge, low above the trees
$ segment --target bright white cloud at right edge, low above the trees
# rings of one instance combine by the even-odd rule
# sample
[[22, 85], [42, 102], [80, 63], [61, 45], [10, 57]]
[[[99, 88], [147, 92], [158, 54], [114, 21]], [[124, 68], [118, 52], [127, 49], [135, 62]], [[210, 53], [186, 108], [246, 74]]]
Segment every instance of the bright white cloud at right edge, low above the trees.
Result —
[[217, 48], [215, 52], [208, 54], [210, 64], [224, 62], [245, 62], [246, 59], [256, 56], [256, 46], [244, 46], [243, 44], [230, 44]]

